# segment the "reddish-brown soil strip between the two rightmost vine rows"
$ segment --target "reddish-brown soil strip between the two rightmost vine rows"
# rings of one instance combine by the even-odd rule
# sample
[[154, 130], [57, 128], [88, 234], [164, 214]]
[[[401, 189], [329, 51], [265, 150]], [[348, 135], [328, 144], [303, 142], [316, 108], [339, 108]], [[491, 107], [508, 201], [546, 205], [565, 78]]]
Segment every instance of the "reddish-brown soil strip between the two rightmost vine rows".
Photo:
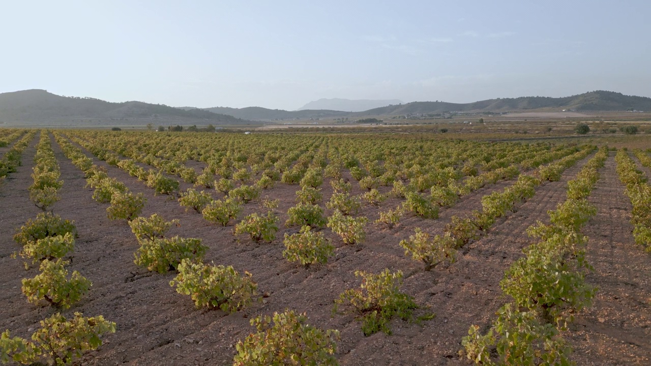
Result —
[[651, 364], [651, 267], [633, 241], [632, 206], [609, 158], [590, 195], [598, 209], [589, 236], [589, 283], [599, 287], [593, 306], [577, 314], [566, 337], [579, 365]]

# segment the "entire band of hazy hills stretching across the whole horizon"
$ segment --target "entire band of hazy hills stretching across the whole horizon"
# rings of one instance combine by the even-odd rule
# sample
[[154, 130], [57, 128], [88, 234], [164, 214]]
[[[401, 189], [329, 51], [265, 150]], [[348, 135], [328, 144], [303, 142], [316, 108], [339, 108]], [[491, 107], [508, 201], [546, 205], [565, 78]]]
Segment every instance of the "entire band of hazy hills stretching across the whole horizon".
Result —
[[[306, 106], [309, 106], [307, 104]], [[197, 109], [174, 108], [143, 102], [112, 103], [94, 98], [59, 96], [32, 89], [0, 94], [0, 126], [144, 126], [147, 123], [169, 126], [250, 125], [254, 120], [356, 119], [396, 115], [434, 114], [445, 112], [521, 112], [521, 111], [651, 111], [651, 98], [628, 96], [618, 92], [593, 91], [563, 98], [525, 96], [497, 98], [459, 104], [447, 102], [411, 102], [393, 104], [366, 111], [349, 112], [330, 109], [283, 111], [262, 107]]]

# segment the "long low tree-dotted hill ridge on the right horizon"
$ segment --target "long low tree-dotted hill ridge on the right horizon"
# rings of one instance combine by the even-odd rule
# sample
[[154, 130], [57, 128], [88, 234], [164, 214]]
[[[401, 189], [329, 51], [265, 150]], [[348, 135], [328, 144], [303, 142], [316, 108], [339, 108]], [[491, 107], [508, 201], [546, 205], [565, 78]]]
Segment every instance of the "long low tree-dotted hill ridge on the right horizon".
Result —
[[520, 98], [497, 98], [473, 103], [411, 102], [398, 106], [369, 109], [355, 115], [409, 115], [426, 113], [458, 112], [506, 112], [530, 110], [560, 111], [651, 111], [651, 98], [628, 96], [619, 92], [593, 91], [562, 98], [546, 96], [523, 96]]

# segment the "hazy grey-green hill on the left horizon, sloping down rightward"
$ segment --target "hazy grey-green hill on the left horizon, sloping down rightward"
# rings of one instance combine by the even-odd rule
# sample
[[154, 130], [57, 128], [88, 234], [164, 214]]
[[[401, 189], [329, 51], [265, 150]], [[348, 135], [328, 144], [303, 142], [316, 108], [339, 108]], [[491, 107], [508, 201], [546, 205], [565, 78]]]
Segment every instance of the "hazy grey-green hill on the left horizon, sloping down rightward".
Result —
[[[95, 98], [59, 96], [31, 89], [0, 94], [0, 122], [57, 126], [72, 121], [125, 121], [184, 124], [240, 124], [241, 119], [202, 109], [178, 109], [143, 102], [105, 102]], [[133, 122], [140, 123], [133, 123]], [[128, 123], [122, 124], [128, 124]], [[118, 124], [118, 123], [113, 123]], [[146, 122], [145, 122], [146, 124]]]

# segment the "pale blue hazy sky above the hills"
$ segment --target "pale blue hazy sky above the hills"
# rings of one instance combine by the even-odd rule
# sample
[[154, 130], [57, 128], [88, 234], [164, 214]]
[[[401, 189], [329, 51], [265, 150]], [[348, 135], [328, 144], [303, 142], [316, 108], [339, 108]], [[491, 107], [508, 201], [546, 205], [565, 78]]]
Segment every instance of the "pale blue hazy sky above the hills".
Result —
[[296, 109], [651, 96], [651, 0], [4, 0], [0, 92]]

